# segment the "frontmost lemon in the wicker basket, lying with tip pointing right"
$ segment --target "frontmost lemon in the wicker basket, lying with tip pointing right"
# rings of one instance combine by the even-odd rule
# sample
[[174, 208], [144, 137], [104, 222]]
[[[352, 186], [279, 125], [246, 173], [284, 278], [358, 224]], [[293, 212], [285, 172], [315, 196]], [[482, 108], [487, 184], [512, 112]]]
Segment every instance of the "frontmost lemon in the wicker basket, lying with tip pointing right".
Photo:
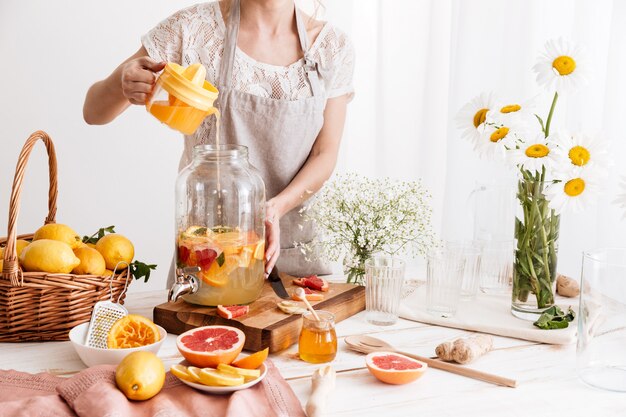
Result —
[[58, 240], [40, 239], [26, 246], [20, 255], [25, 271], [69, 274], [80, 264], [67, 243]]

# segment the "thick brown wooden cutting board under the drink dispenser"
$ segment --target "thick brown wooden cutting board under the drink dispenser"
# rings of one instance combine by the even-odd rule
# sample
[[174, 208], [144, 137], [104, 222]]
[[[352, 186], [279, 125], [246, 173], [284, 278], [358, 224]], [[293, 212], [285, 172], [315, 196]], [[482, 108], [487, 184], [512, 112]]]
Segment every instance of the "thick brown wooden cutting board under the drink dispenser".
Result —
[[[291, 282], [294, 277], [282, 273], [280, 277], [291, 294], [296, 288]], [[323, 300], [311, 304], [316, 310], [333, 313], [337, 322], [365, 309], [365, 287], [333, 282], [323, 294]], [[280, 300], [266, 281], [261, 296], [250, 304], [250, 312], [243, 317], [228, 320], [218, 316], [213, 307], [189, 304], [181, 299], [156, 306], [154, 322], [173, 334], [212, 324], [238, 327], [246, 334], [244, 349], [257, 351], [269, 347], [270, 352], [278, 352], [297, 343], [302, 328], [300, 315], [288, 315], [276, 307]]]

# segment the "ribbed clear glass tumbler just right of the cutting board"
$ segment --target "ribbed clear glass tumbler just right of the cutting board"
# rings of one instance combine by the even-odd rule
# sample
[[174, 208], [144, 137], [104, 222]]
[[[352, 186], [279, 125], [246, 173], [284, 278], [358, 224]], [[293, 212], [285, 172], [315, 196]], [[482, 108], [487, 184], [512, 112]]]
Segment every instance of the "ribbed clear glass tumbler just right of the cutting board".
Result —
[[378, 326], [398, 321], [405, 263], [391, 256], [375, 256], [365, 261], [366, 320]]

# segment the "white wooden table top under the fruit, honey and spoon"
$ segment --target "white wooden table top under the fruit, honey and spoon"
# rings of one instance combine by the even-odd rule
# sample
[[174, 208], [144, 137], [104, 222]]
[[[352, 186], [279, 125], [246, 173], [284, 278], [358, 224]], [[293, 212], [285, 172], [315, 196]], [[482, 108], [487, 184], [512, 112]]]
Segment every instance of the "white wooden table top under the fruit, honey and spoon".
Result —
[[[165, 291], [130, 294], [126, 307], [132, 313], [152, 317], [152, 307], [165, 299]], [[329, 417], [626, 416], [626, 394], [597, 390], [577, 379], [573, 345], [558, 347], [496, 337], [496, 350], [471, 366], [517, 379], [518, 388], [499, 387], [435, 369], [429, 369], [414, 383], [392, 386], [371, 376], [364, 356], [347, 349], [343, 338], [363, 333], [423, 356], [432, 356], [441, 341], [467, 334], [407, 320], [377, 327], [365, 321], [364, 313], [339, 323], [339, 353], [332, 362], [337, 384], [329, 398]], [[182, 360], [175, 341], [175, 335], [168, 335], [159, 352], [166, 367]], [[319, 365], [299, 360], [297, 346], [271, 355], [271, 359], [304, 405], [310, 392], [310, 376]], [[2, 369], [71, 375], [84, 367], [69, 342], [0, 343]]]

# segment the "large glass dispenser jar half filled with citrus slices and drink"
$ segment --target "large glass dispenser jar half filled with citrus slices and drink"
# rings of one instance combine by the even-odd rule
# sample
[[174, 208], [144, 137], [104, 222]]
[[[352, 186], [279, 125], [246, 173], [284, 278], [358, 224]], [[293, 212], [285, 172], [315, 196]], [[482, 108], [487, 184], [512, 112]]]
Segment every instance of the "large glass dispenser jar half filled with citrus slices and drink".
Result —
[[200, 145], [176, 181], [177, 266], [200, 268], [200, 288], [183, 298], [248, 304], [263, 288], [265, 186], [237, 145]]

